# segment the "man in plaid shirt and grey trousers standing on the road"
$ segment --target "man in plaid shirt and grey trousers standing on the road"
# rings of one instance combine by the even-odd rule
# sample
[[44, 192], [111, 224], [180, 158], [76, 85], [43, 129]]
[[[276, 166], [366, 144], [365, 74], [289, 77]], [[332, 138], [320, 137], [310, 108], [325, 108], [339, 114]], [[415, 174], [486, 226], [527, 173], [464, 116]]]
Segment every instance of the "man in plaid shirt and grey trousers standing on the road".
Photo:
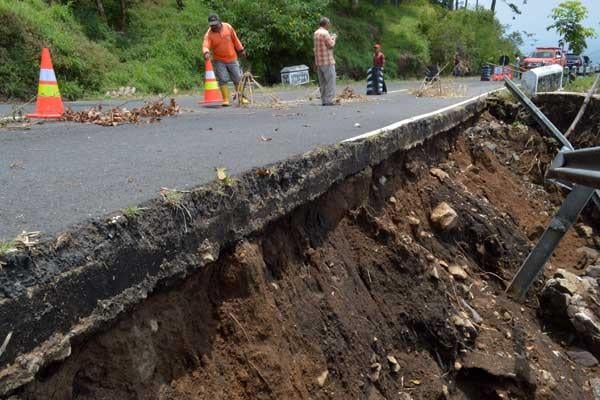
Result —
[[329, 18], [322, 17], [319, 29], [313, 35], [315, 64], [319, 75], [319, 90], [321, 91], [321, 102], [324, 106], [333, 106], [335, 103], [335, 59], [333, 48], [337, 35], [329, 33], [331, 22]]

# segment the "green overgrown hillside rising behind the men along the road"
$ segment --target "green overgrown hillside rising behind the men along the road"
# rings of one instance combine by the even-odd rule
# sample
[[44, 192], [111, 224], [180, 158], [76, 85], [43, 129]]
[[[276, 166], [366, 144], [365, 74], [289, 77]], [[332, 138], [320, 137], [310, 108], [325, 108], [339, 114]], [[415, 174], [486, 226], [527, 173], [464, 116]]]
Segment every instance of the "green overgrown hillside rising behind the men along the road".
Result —
[[456, 51], [476, 72], [515, 48], [489, 11], [448, 11], [427, 0], [362, 1], [357, 8], [341, 0], [135, 0], [125, 2], [124, 14], [120, 2], [103, 0], [104, 15], [94, 3], [0, 0], [0, 98], [35, 95], [42, 46], [52, 50], [68, 99], [120, 86], [142, 93], [195, 89], [211, 10], [237, 28], [250, 56], [245, 68], [269, 84], [283, 66], [312, 64], [312, 32], [323, 14], [339, 34], [338, 73], [352, 79], [364, 78], [375, 42], [383, 45], [391, 77], [421, 76], [427, 64], [444, 64]]

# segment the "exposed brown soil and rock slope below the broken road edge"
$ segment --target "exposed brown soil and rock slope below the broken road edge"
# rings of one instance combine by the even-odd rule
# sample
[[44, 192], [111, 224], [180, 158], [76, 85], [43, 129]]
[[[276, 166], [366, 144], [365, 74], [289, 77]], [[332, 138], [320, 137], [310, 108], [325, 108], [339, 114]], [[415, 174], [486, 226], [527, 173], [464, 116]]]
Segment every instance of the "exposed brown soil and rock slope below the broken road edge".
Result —
[[[18, 396], [592, 399], [597, 370], [546, 334], [539, 287], [504, 295], [562, 201], [541, 185], [555, 151], [485, 113], [397, 153], [73, 343]], [[446, 229], [430, 219], [443, 202]], [[569, 232], [548, 270], [577, 272], [582, 246]]]

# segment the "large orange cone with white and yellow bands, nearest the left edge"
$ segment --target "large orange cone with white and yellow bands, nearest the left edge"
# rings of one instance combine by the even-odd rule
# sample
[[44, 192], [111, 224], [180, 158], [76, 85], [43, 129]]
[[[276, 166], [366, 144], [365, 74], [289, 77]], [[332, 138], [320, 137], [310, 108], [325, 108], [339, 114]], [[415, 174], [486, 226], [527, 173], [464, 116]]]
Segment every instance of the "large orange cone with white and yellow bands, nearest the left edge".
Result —
[[33, 114], [27, 114], [29, 118], [60, 118], [65, 108], [60, 98], [58, 82], [54, 75], [50, 50], [42, 49], [42, 62], [40, 65], [40, 83], [38, 85], [38, 98]]

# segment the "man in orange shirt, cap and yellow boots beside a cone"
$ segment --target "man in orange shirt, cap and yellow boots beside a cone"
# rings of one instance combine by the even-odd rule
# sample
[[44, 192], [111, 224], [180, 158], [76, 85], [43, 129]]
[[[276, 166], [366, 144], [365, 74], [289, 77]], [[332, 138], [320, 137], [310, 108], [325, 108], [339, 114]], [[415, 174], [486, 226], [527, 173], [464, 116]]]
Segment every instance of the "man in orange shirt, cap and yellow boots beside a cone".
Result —
[[240, 84], [242, 70], [238, 62], [238, 53], [245, 57], [246, 51], [233, 27], [228, 23], [221, 22], [216, 14], [208, 17], [208, 25], [210, 28], [204, 35], [202, 52], [204, 59], [208, 60], [212, 51], [215, 75], [223, 95], [223, 106], [228, 106], [229, 87], [227, 82], [231, 80], [236, 88]]

